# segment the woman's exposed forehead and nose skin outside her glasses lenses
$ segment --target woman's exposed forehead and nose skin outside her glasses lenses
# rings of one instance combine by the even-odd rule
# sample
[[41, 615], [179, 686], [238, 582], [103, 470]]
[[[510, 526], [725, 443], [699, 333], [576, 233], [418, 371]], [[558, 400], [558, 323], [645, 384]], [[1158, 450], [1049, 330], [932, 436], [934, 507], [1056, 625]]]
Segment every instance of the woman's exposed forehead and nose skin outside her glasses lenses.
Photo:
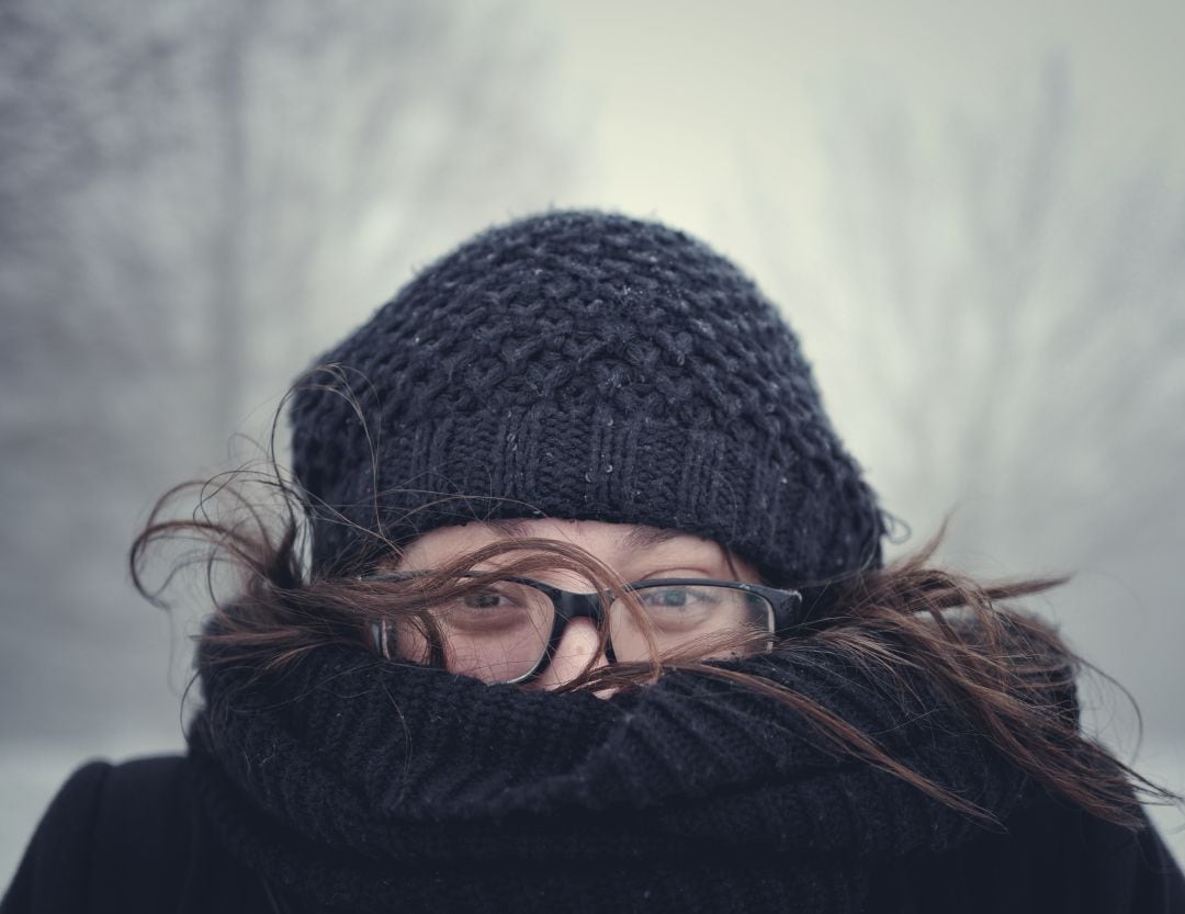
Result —
[[[398, 571], [441, 568], [482, 547], [504, 541], [540, 538], [569, 543], [591, 554], [629, 582], [660, 577], [711, 577], [760, 583], [756, 570], [710, 539], [674, 530], [597, 520], [551, 518], [497, 520], [433, 530], [409, 545]], [[730, 561], [731, 558], [731, 561]], [[497, 567], [497, 560], [488, 565]], [[568, 570], [542, 573], [538, 579], [568, 590], [594, 589], [583, 576]], [[590, 660], [606, 663], [601, 639], [590, 619], [572, 619], [556, 654], [532, 685], [553, 689], [575, 679]]]

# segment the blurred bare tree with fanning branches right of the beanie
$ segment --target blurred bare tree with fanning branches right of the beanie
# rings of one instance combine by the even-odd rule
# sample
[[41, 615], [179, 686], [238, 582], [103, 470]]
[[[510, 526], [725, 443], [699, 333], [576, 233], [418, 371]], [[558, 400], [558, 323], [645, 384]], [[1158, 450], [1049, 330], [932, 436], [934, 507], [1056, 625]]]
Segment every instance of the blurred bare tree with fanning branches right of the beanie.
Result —
[[1142, 149], [1087, 155], [1057, 62], [1001, 100], [937, 124], [891, 90], [837, 100], [813, 226], [835, 279], [784, 244], [762, 273], [808, 351], [843, 340], [818, 369], [885, 506], [923, 536], [954, 511], [946, 554], [981, 571], [1078, 571], [1038, 608], [1181, 740], [1185, 188]]

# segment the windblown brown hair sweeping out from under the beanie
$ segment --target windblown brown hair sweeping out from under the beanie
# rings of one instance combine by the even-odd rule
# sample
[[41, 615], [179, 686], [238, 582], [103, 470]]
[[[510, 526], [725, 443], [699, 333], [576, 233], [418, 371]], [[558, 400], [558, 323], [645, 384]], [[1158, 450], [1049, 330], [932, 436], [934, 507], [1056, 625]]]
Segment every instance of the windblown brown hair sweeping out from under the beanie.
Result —
[[[248, 493], [255, 491], [256, 494]], [[197, 494], [192, 516], [169, 519], [179, 498]], [[216, 505], [230, 513], [219, 516]], [[236, 661], [249, 660], [261, 672], [316, 651], [326, 644], [371, 647], [369, 629], [377, 620], [409, 616], [438, 645], [434, 602], [488, 584], [460, 571], [505, 557], [498, 576], [533, 576], [565, 569], [595, 587], [623, 583], [594, 556], [575, 545], [547, 539], [517, 539], [485, 547], [447, 568], [412, 581], [376, 581], [359, 576], [319, 577], [308, 571], [307, 505], [274, 461], [267, 471], [242, 469], [204, 482], [177, 486], [158, 501], [130, 551], [136, 588], [156, 605], [180, 565], [205, 570], [214, 602], [214, 625], [203, 641], [232, 646]], [[371, 533], [371, 536], [374, 536]], [[145, 570], [152, 547], [164, 541], [194, 539], [201, 549], [174, 563], [159, 588], [149, 588]], [[802, 650], [812, 644], [840, 651], [853, 664], [873, 670], [889, 688], [910, 689], [918, 676], [1019, 768], [1048, 790], [1100, 818], [1135, 826], [1133, 787], [1144, 799], [1178, 803], [1115, 759], [1078, 729], [1075, 680], [1078, 658], [1046, 624], [1004, 601], [1038, 594], [1063, 579], [984, 583], [935, 565], [941, 533], [912, 556], [883, 569], [830, 582], [811, 593], [814, 618], [782, 644]], [[398, 555], [386, 543], [385, 554]], [[214, 581], [229, 567], [237, 576], [233, 597], [219, 600]], [[352, 569], [361, 573], [363, 568]], [[607, 638], [602, 631], [602, 641]], [[859, 758], [908, 781], [968, 816], [989, 819], [984, 810], [893, 759], [875, 736], [834, 712], [770, 679], [712, 663], [722, 650], [756, 650], [754, 635], [713, 641], [697, 651], [654, 657], [648, 664], [613, 664], [589, 669], [564, 689], [628, 689], [653, 683], [678, 667], [724, 679], [770, 696], [800, 714], [831, 748]], [[775, 651], [777, 646], [775, 645]], [[438, 656], [438, 651], [436, 652]], [[1097, 671], [1095, 671], [1097, 672]]]

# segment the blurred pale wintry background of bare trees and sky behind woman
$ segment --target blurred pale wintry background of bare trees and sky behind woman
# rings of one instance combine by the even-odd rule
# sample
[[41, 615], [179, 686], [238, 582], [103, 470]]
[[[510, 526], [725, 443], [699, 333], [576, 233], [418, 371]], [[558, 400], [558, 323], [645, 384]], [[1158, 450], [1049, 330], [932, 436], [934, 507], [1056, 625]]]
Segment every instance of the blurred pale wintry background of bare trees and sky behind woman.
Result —
[[[127, 548], [455, 242], [656, 217], [803, 337], [905, 526], [1122, 683], [1185, 790], [1185, 7], [8, 0], [0, 7], [0, 886], [90, 758], [184, 746]], [[192, 698], [190, 703], [192, 704]], [[1185, 859], [1185, 818], [1154, 810]]]

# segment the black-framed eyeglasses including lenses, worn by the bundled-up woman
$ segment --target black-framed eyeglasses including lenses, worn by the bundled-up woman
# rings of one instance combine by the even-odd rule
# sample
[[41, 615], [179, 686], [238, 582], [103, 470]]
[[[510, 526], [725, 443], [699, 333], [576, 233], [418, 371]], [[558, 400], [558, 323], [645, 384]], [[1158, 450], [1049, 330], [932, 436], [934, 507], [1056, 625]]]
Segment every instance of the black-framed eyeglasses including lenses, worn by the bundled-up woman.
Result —
[[[364, 580], [406, 581], [424, 574], [382, 574]], [[697, 643], [710, 644], [713, 637], [754, 633], [773, 638], [794, 625], [802, 605], [798, 590], [739, 581], [639, 581], [617, 594], [572, 593], [526, 577], [481, 571], [461, 576], [488, 576], [491, 581], [428, 607], [441, 645], [434, 650], [423, 628], [408, 619], [376, 622], [376, 650], [387, 659], [435, 654], [453, 672], [487, 683], [525, 683], [547, 667], [572, 619], [608, 625], [608, 658], [630, 663], [648, 661], [655, 651], [664, 654]], [[626, 594], [632, 595], [628, 602]], [[645, 620], [639, 619], [639, 609]]]

